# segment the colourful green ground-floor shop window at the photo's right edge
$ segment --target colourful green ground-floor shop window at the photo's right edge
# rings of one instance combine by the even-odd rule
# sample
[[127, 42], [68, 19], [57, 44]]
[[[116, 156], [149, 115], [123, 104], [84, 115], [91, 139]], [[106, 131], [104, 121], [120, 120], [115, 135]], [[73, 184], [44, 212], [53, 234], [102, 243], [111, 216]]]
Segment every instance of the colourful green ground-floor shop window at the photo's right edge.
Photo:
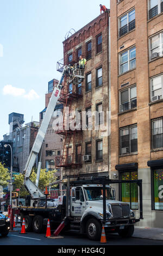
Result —
[[163, 169], [153, 170], [153, 210], [163, 210]]

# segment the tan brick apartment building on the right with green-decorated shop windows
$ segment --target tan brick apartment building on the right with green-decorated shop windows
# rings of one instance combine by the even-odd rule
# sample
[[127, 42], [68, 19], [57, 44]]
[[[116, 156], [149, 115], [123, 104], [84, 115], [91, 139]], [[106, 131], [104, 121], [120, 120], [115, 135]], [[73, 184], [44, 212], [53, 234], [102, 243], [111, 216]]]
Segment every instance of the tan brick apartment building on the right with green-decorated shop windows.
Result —
[[[117, 173], [119, 179], [142, 179], [139, 225], [163, 227], [163, 3], [110, 5], [111, 178]], [[137, 215], [137, 187], [118, 191]]]

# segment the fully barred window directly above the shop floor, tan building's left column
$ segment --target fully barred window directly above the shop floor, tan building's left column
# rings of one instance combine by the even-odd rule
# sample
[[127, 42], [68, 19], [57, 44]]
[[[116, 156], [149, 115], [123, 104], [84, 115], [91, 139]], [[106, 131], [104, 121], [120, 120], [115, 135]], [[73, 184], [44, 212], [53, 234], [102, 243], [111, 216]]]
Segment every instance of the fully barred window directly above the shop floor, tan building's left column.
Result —
[[120, 129], [120, 154], [137, 152], [137, 125], [130, 125]]

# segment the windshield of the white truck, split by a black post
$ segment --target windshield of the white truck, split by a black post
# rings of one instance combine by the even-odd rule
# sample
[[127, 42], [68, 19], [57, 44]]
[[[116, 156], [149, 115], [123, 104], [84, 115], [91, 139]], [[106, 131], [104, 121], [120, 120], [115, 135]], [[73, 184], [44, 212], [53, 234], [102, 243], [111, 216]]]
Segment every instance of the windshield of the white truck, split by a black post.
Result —
[[[102, 200], [103, 190], [101, 187], [86, 187], [84, 188], [86, 200]], [[114, 200], [110, 188], [106, 188], [106, 200]]]

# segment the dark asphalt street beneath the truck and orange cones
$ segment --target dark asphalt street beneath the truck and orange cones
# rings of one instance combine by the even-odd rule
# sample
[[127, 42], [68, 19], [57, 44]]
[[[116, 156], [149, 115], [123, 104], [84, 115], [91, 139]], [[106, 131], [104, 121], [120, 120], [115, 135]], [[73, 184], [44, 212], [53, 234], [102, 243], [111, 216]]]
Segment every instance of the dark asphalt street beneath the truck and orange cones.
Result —
[[1, 245], [163, 245], [162, 241], [151, 239], [139, 239], [131, 237], [130, 239], [122, 239], [120, 236], [114, 234], [107, 236], [107, 243], [101, 244], [97, 241], [91, 241], [86, 236], [66, 233], [63, 234], [62, 239], [48, 239], [45, 234], [26, 233], [20, 234], [21, 228], [15, 228], [14, 232], [9, 232], [7, 237], [0, 236]]

